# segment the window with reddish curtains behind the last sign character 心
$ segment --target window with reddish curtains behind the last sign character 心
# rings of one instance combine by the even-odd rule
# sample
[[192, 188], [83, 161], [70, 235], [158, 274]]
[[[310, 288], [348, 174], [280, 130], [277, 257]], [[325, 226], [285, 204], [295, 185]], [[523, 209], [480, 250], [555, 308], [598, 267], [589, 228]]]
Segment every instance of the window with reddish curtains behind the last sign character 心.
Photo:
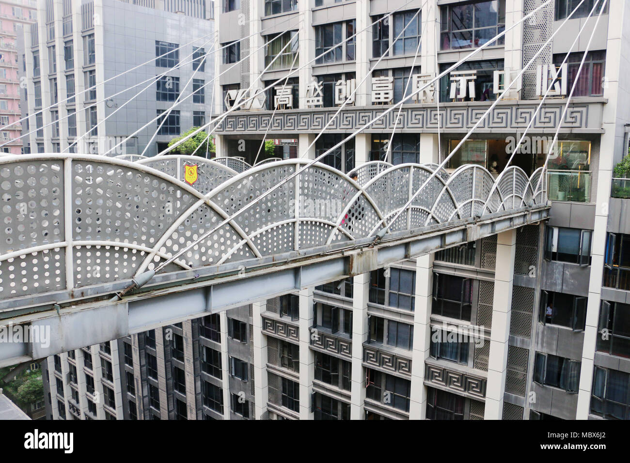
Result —
[[[577, 76], [578, 83], [573, 91], [573, 96], [600, 96], [604, 94], [604, 68], [606, 66], [606, 50], [588, 52], [584, 60], [582, 70], [578, 76], [578, 69], [583, 52], [571, 53], [566, 60], [567, 64], [567, 88], [573, 88]], [[565, 55], [554, 55], [553, 62], [556, 66], [562, 64]]]

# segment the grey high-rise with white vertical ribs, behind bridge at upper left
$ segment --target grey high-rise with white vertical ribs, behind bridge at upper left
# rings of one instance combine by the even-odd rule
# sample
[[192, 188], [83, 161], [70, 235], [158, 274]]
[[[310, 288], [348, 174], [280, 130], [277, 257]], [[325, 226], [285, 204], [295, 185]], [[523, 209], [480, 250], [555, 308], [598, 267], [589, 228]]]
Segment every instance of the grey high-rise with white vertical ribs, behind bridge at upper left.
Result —
[[212, 2], [47, 0], [37, 14], [20, 64], [26, 152], [153, 156], [209, 120]]

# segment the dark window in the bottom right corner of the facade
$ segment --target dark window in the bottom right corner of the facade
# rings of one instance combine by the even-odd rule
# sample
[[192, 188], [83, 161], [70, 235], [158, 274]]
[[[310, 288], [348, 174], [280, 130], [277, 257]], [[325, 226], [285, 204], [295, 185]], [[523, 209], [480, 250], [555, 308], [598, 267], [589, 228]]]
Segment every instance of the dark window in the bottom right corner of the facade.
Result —
[[630, 420], [630, 374], [595, 367], [590, 413], [607, 420]]

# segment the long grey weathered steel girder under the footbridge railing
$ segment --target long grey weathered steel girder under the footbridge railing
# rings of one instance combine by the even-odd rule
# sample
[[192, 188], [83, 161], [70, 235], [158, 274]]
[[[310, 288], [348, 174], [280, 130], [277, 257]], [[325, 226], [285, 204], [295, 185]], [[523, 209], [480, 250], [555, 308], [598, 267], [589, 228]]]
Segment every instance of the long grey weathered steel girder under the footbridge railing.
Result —
[[[118, 302], [110, 298], [131, 280], [101, 283], [6, 301], [0, 309], [0, 367], [95, 345], [166, 324], [244, 306], [305, 287], [353, 277], [440, 249], [535, 224], [549, 207], [523, 207], [483, 219], [401, 231], [370, 247], [372, 237], [307, 251], [156, 275]], [[46, 341], [7, 340], [21, 326], [49, 333]], [[10, 338], [10, 336], [9, 336]], [[32, 339], [32, 338], [30, 338]], [[42, 342], [43, 341], [43, 342]]]

